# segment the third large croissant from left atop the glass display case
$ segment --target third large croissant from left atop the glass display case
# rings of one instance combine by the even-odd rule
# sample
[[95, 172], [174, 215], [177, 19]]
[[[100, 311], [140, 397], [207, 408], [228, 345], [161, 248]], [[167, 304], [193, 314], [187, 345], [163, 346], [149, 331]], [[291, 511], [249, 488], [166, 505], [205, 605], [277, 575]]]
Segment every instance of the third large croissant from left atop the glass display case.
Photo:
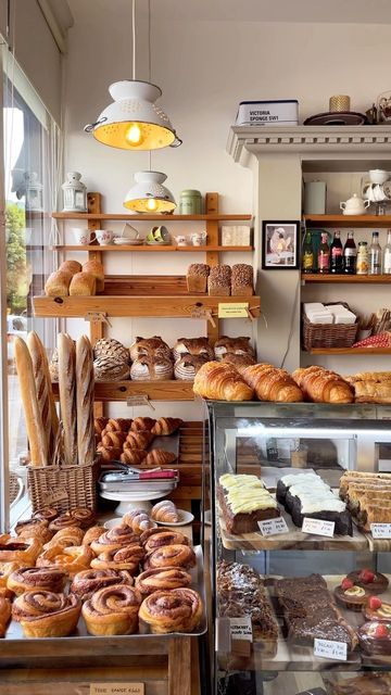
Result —
[[306, 401], [314, 403], [352, 403], [354, 393], [351, 386], [335, 371], [324, 367], [295, 369], [292, 377], [302, 389]]

